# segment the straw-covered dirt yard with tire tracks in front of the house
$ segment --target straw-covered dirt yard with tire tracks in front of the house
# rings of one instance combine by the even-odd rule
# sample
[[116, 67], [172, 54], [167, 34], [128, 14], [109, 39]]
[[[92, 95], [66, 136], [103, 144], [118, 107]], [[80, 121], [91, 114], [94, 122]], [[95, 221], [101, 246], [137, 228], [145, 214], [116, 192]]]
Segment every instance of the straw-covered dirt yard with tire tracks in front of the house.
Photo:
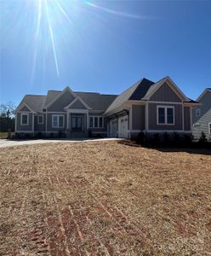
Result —
[[192, 254], [211, 254], [211, 155], [0, 148], [0, 255]]

